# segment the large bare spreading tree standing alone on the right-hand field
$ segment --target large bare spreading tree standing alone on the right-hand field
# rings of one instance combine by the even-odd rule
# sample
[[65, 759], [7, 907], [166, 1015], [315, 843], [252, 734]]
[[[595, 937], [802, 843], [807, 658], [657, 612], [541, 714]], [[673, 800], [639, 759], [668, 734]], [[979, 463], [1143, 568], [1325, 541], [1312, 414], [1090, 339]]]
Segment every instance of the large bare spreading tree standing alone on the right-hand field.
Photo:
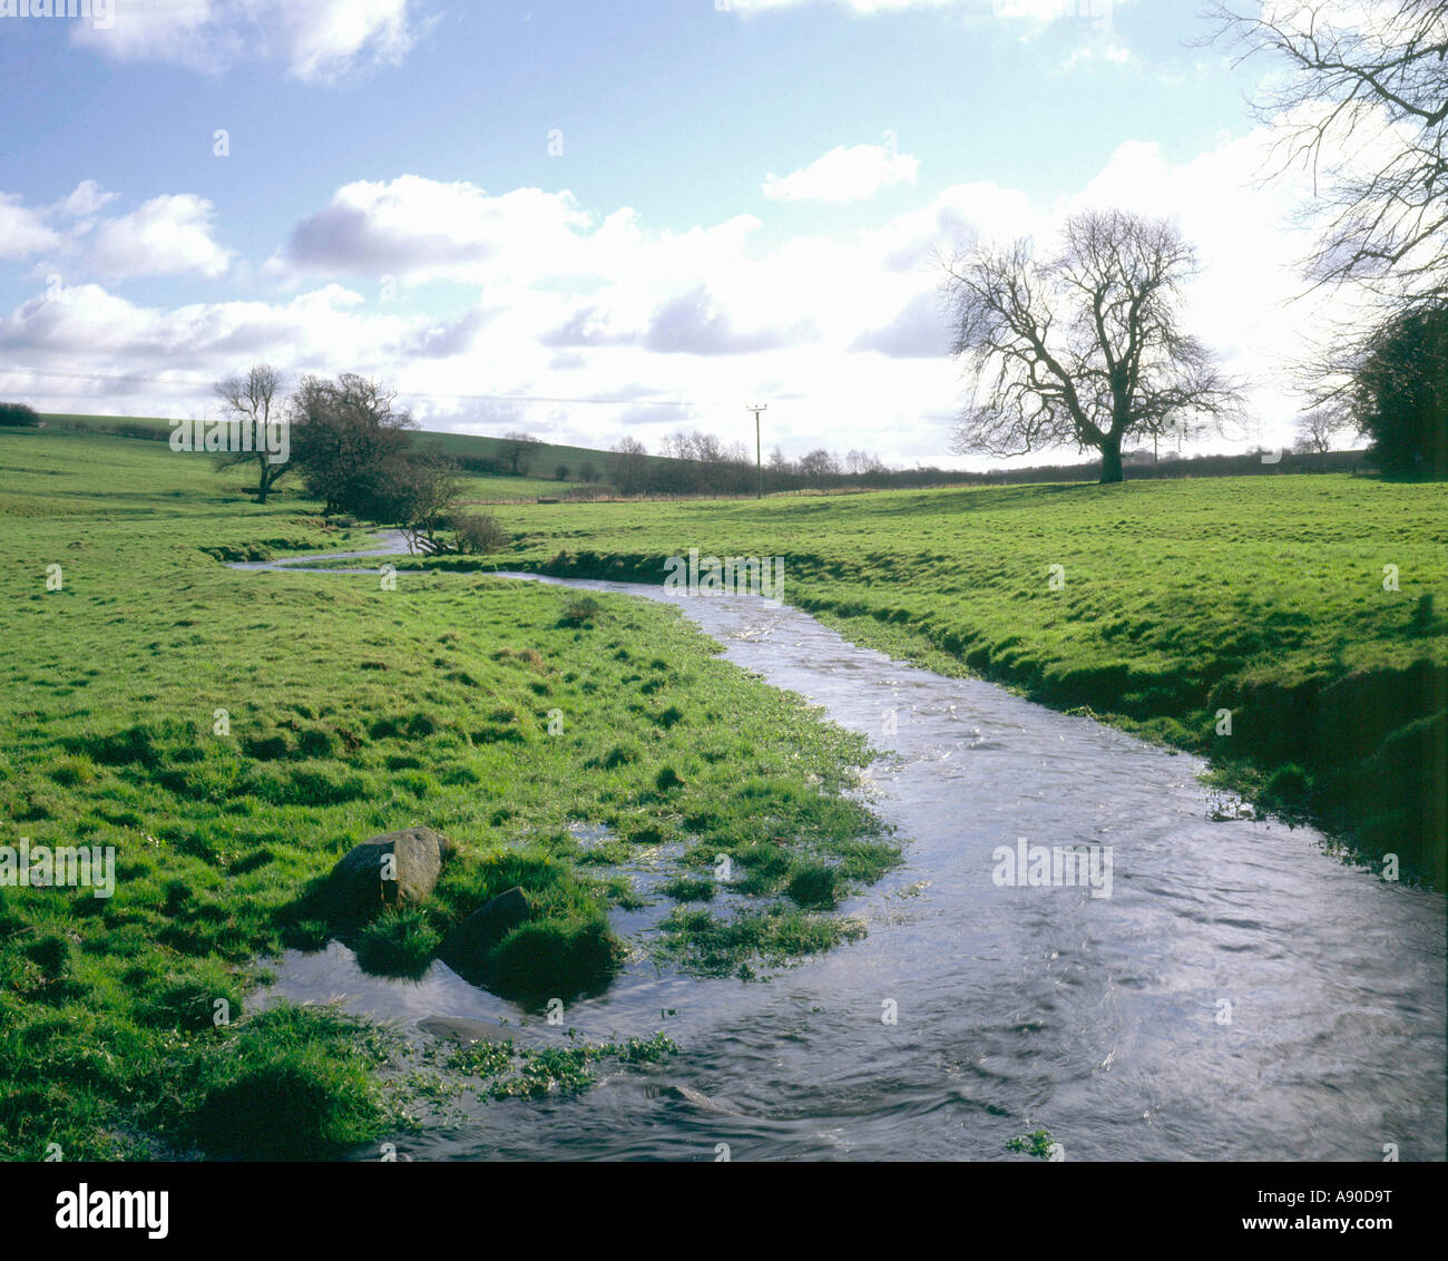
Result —
[[1166, 220], [1122, 210], [1066, 222], [1060, 249], [1030, 240], [941, 259], [951, 355], [979, 400], [951, 450], [1024, 455], [1074, 443], [1100, 452], [1102, 482], [1122, 481], [1121, 444], [1200, 417], [1235, 414], [1239, 388], [1180, 327], [1192, 248]]

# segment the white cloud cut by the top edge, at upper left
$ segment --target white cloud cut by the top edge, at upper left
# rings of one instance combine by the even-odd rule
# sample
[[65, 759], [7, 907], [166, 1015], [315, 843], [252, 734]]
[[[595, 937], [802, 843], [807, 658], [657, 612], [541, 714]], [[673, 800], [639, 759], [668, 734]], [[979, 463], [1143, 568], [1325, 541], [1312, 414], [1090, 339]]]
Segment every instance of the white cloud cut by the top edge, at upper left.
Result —
[[220, 71], [279, 61], [306, 83], [330, 83], [369, 62], [398, 64], [418, 23], [408, 0], [113, 0], [106, 28], [74, 23], [71, 38], [117, 61]]

